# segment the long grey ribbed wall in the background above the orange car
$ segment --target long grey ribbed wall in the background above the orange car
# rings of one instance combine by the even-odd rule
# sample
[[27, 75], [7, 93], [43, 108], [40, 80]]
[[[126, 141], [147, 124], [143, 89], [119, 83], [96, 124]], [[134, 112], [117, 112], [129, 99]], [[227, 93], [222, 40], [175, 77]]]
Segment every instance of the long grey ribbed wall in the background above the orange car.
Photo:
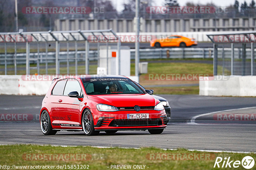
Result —
[[[252, 18], [142, 19], [141, 32], [200, 32], [256, 30]], [[132, 19], [56, 19], [56, 31], [110, 29], [134, 32]]]

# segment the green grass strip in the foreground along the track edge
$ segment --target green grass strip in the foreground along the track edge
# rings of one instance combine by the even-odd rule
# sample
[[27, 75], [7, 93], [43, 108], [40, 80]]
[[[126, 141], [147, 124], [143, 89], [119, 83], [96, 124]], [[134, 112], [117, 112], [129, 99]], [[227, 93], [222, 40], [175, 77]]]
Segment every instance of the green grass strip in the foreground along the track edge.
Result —
[[[71, 165], [89, 165], [89, 169], [93, 170], [105, 170], [111, 169], [111, 165], [131, 165], [134, 169], [134, 165], [145, 165], [145, 169], [148, 170], [211, 170], [218, 169], [213, 168], [216, 157], [230, 157], [230, 160], [240, 160], [245, 156], [252, 156], [254, 159], [256, 157], [255, 153], [244, 154], [244, 153], [216, 153], [216, 152], [199, 152], [199, 151], [188, 151], [186, 149], [177, 149], [177, 150], [162, 150], [155, 147], [140, 148], [140, 149], [123, 149], [123, 148], [95, 148], [95, 147], [84, 147], [84, 146], [75, 146], [75, 147], [60, 147], [60, 146], [40, 146], [40, 145], [2, 145], [1, 154], [0, 154], [0, 165], [11, 166], [55, 166], [52, 169], [61, 169], [56, 168], [56, 166], [65, 166], [68, 167]], [[160, 154], [161, 153], [161, 154]], [[45, 158], [42, 155], [46, 156]], [[53, 157], [53, 154], [58, 156]], [[69, 157], [64, 157], [65, 160], [62, 160], [61, 155], [65, 154], [86, 154], [84, 159], [81, 157], [75, 157], [76, 160], [70, 160]], [[161, 157], [157, 155], [167, 155], [170, 157], [163, 157], [164, 160], [159, 160]], [[182, 155], [180, 158], [179, 155]], [[189, 157], [189, 154], [192, 157]], [[50, 157], [52, 155], [52, 157]], [[90, 157], [91, 155], [91, 157]], [[201, 155], [204, 156], [203, 160], [198, 160]], [[173, 157], [175, 156], [175, 157]], [[209, 156], [209, 157], [208, 157]], [[38, 160], [42, 158], [43, 160]], [[91, 159], [90, 159], [91, 158]], [[175, 158], [173, 160], [173, 158]], [[189, 158], [192, 158], [190, 160]], [[30, 160], [32, 159], [32, 160]], [[51, 159], [51, 160], [49, 160]], [[54, 159], [54, 160], [53, 160]], [[89, 160], [88, 160], [89, 159]], [[155, 160], [154, 160], [155, 159]], [[157, 159], [157, 160], [156, 160]], [[195, 160], [196, 159], [196, 160]], [[222, 166], [223, 161], [221, 162]], [[232, 165], [232, 164], [231, 164]], [[142, 166], [143, 167], [143, 166]], [[16, 168], [17, 169], [17, 168]], [[24, 169], [24, 168], [18, 168]], [[43, 169], [43, 168], [38, 168]], [[78, 169], [77, 167], [68, 168], [68, 169]], [[80, 168], [81, 169], [81, 168]], [[113, 168], [112, 168], [113, 169]], [[231, 168], [232, 169], [232, 168]], [[236, 169], [244, 169], [240, 165]]]

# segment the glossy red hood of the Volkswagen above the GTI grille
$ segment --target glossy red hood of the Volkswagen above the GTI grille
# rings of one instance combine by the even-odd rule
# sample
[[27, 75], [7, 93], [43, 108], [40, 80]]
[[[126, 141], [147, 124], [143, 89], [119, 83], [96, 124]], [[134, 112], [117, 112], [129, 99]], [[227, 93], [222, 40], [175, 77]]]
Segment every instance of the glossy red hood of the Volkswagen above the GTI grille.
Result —
[[157, 99], [149, 94], [88, 95], [87, 98], [116, 107], [155, 106], [159, 103]]

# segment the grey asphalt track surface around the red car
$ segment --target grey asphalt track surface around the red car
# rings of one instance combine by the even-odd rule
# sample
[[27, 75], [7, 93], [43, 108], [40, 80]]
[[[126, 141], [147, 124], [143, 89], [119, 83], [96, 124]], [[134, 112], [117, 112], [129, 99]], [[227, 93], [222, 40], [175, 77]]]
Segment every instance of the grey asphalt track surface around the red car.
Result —
[[[206, 116], [201, 117], [198, 122], [196, 120], [194, 124], [190, 123], [191, 118], [196, 115], [256, 106], [255, 97], [160, 96], [166, 98], [172, 107], [172, 120], [160, 135], [150, 135], [148, 131], [118, 131], [111, 135], [100, 132], [99, 136], [85, 136], [82, 131], [60, 131], [54, 136], [44, 136], [36, 116], [39, 114], [44, 96], [0, 95], [0, 114], [27, 113], [34, 116], [31, 122], [1, 122], [0, 144], [155, 146], [256, 152], [256, 121], [242, 124], [239, 121], [230, 121], [229, 124], [223, 124], [221, 121], [213, 120], [211, 116]], [[255, 110], [247, 112], [255, 113]]]

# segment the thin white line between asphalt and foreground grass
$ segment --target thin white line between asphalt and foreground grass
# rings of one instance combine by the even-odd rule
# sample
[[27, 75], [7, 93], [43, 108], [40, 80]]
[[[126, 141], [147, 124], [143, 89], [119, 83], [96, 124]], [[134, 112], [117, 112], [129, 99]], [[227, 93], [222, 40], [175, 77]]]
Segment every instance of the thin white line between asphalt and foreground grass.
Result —
[[[7, 144], [8, 145], [8, 144]], [[17, 144], [14, 144], [17, 145]], [[31, 144], [25, 144], [31, 145]], [[32, 144], [33, 145], [33, 144]], [[53, 146], [53, 147], [78, 147], [73, 145], [39, 145], [39, 146]], [[112, 147], [112, 146], [83, 146], [83, 147], [93, 147], [93, 148], [120, 148], [120, 149], [141, 149], [139, 147]], [[162, 150], [178, 150], [178, 149], [169, 149], [169, 148], [157, 148]], [[221, 151], [221, 150], [203, 150], [203, 149], [187, 149], [188, 151], [199, 151], [199, 152], [227, 152], [227, 153], [256, 153], [256, 152], [244, 152], [244, 151]]]

